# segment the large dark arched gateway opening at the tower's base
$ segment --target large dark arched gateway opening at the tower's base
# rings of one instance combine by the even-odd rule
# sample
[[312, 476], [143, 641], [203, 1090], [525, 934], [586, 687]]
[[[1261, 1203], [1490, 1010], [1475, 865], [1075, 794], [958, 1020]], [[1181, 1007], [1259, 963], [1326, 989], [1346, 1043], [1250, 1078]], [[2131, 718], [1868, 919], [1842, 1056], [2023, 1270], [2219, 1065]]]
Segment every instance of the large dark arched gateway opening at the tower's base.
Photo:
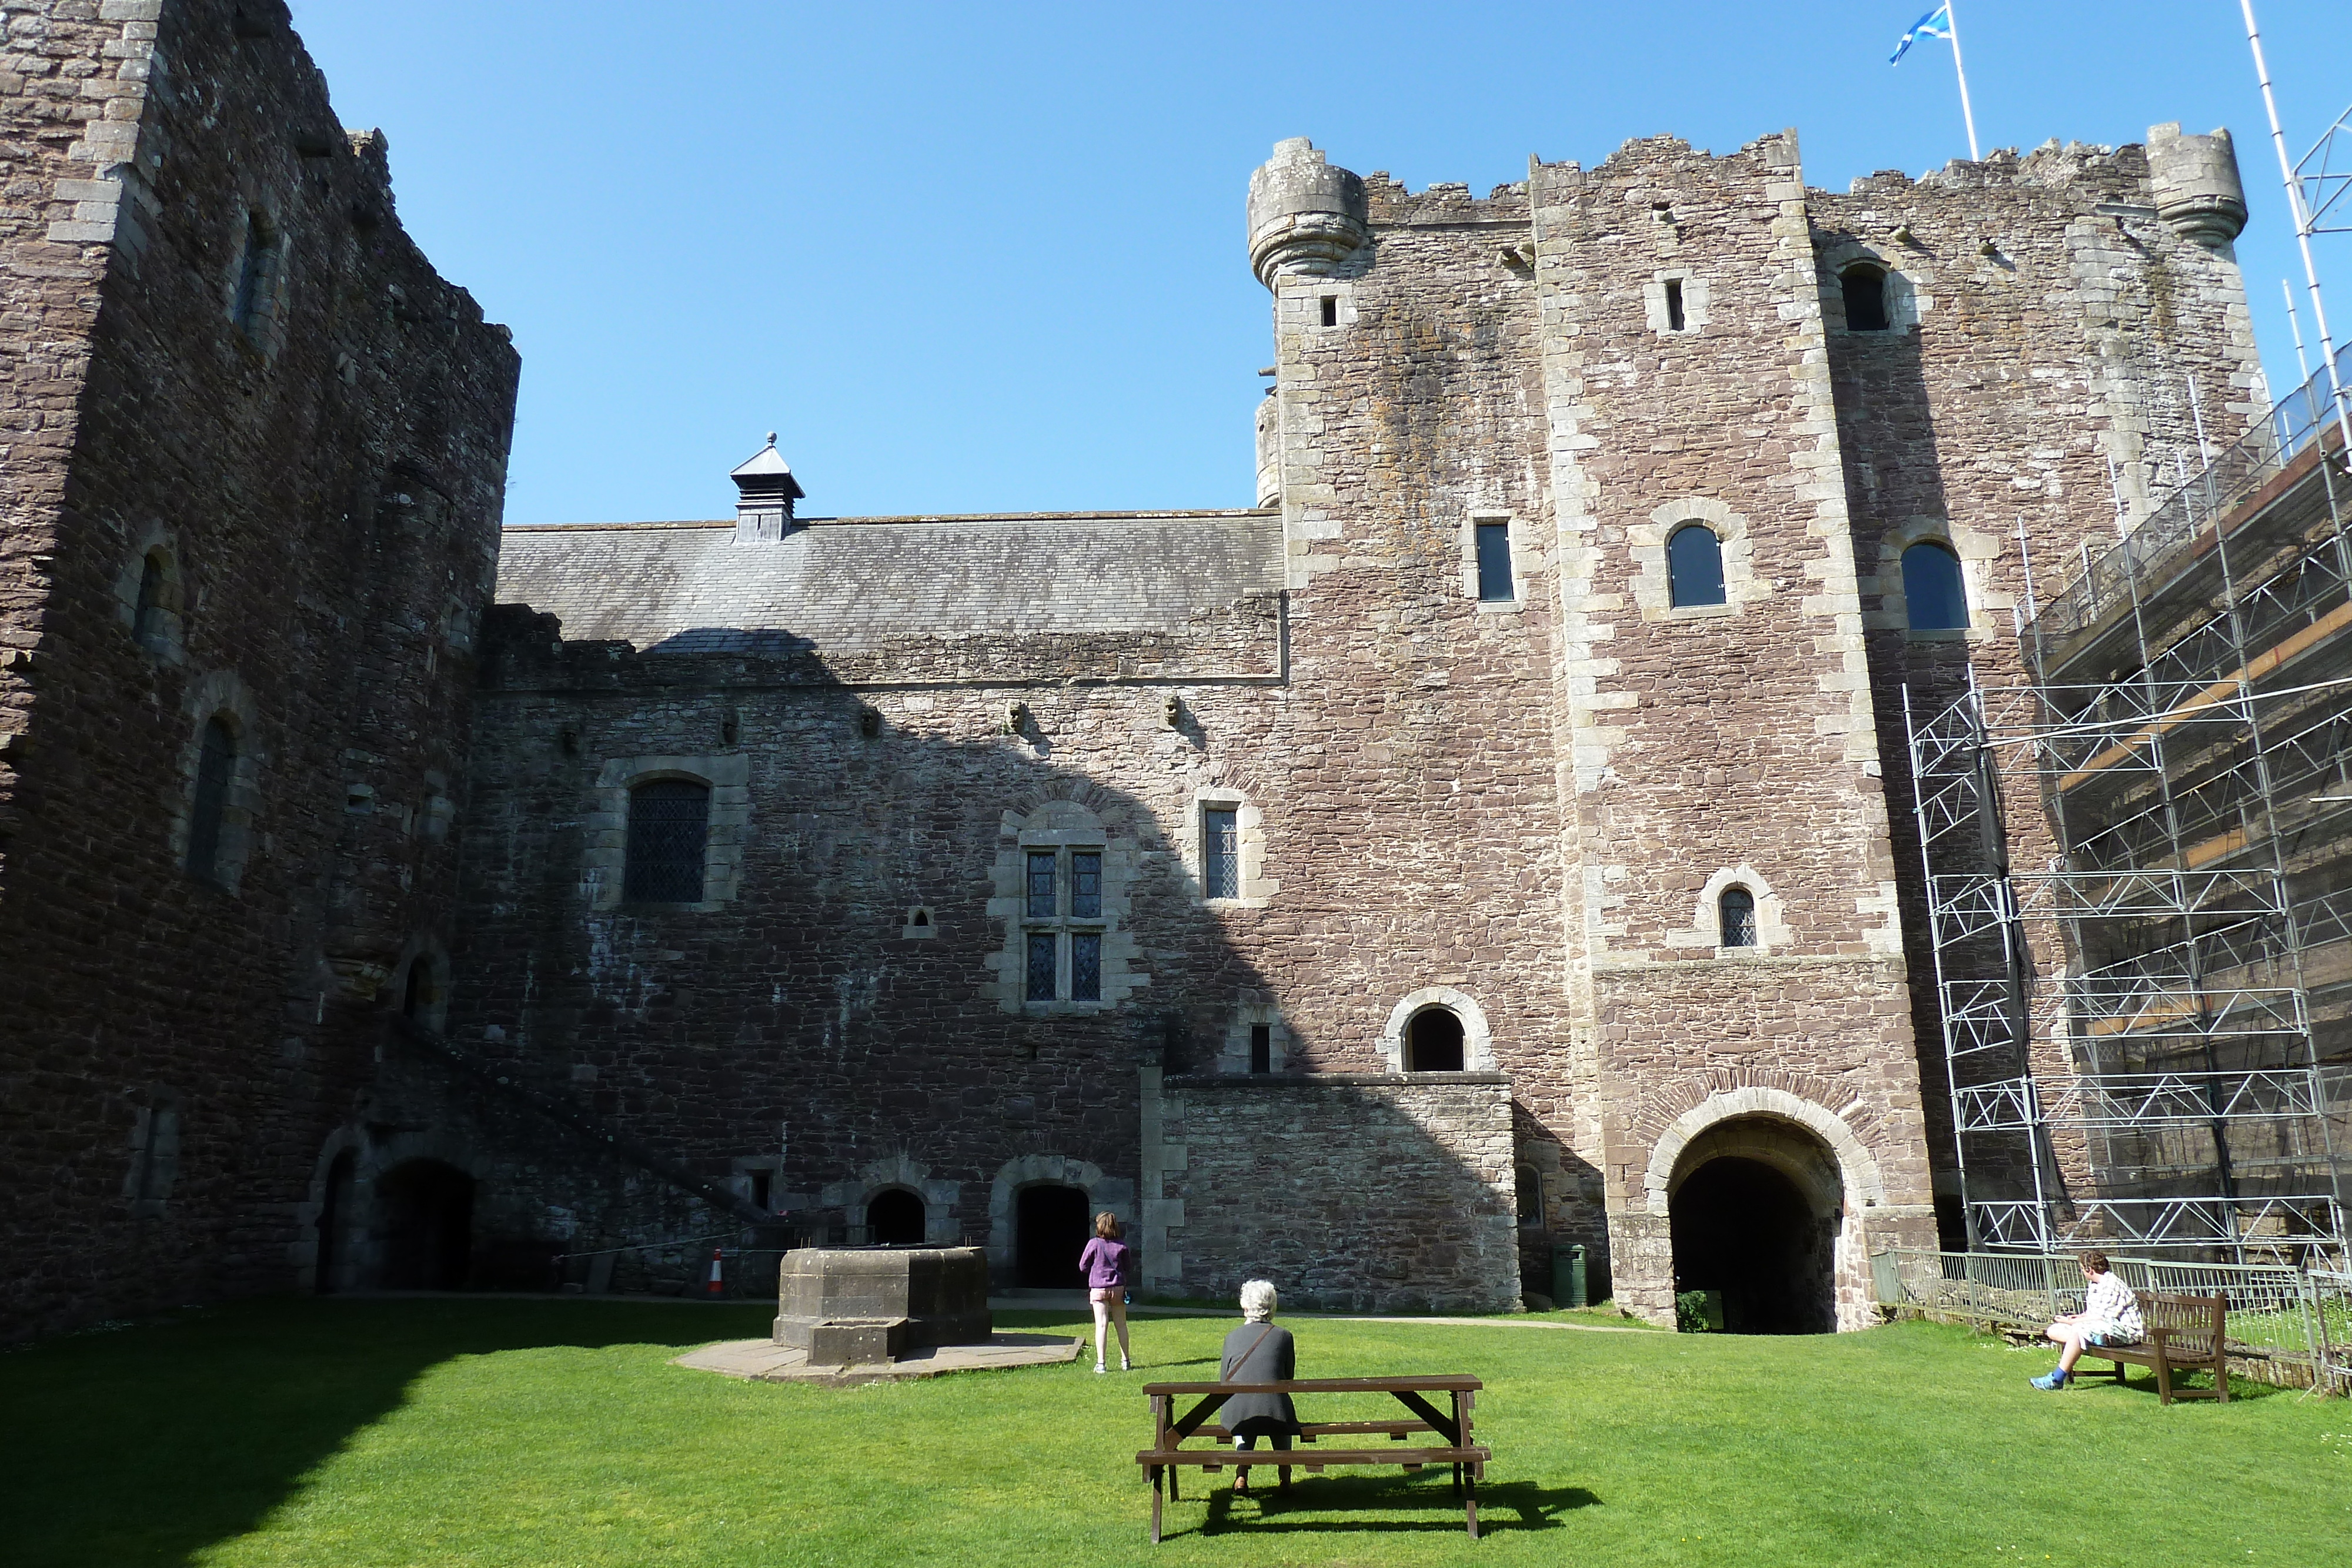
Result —
[[1717, 1291], [1729, 1333], [1837, 1328], [1844, 1182], [1811, 1131], [1769, 1117], [1710, 1126], [1675, 1161], [1675, 1291]]

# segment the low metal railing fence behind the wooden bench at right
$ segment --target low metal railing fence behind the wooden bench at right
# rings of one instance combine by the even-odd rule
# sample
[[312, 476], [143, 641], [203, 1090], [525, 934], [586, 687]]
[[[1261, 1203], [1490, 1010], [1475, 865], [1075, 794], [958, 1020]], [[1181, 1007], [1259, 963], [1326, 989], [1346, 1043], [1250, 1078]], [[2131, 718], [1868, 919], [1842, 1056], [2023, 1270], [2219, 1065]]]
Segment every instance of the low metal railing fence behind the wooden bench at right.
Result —
[[[2352, 1392], [2352, 1272], [2246, 1262], [2114, 1258], [2133, 1291], [2225, 1295], [2230, 1354], [2274, 1368], [2279, 1382]], [[1882, 1307], [1917, 1307], [2006, 1328], [2042, 1328], [2082, 1312], [2074, 1253], [1936, 1253], [1886, 1248], [1870, 1258]]]

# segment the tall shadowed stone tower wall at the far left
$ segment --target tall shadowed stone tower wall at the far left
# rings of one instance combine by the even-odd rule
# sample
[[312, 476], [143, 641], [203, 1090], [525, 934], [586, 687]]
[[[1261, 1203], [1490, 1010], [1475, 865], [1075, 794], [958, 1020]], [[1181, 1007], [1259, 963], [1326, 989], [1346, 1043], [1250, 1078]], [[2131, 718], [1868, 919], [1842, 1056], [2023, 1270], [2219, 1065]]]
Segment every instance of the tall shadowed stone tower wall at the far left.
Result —
[[[14, 7], [9, 47], [12, 181], [45, 197], [0, 240], [21, 1333], [296, 1276], [374, 1011], [447, 933], [517, 360], [400, 230], [383, 139], [346, 136], [282, 5]], [[183, 870], [212, 717], [221, 886]]]

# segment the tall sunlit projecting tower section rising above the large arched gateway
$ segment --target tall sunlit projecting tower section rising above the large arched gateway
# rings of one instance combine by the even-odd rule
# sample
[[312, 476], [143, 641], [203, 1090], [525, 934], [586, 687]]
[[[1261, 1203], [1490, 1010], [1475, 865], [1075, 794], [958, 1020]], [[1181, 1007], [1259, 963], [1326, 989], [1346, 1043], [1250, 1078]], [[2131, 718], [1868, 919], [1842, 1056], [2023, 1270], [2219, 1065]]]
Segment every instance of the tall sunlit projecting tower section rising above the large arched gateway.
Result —
[[[1712, 1072], [1806, 1077], [1832, 1121], [1872, 1121], [1884, 1201], [1915, 1227], [1929, 1201], [1806, 200], [1792, 134], [1534, 172], [1578, 865], [1562, 1067], [1590, 1084], [1618, 1300], [1653, 1316], [1644, 1128]], [[1686, 524], [1719, 541], [1724, 604], [1670, 599]], [[1745, 950], [1717, 945], [1731, 884]]]

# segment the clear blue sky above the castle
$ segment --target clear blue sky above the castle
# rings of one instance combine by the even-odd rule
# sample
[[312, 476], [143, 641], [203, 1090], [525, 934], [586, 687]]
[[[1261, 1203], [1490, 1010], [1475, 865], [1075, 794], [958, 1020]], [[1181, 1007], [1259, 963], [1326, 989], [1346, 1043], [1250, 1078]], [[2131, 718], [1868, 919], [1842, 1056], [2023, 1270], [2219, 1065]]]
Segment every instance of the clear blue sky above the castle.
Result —
[[[508, 520], [586, 522], [729, 515], [767, 430], [809, 515], [1249, 505], [1242, 197], [1277, 139], [1484, 193], [1529, 153], [1795, 125], [1842, 190], [1969, 150], [1950, 47], [1886, 66], [1929, 5], [294, 0], [294, 26], [343, 122], [390, 136], [409, 233], [515, 329]], [[2352, 7], [2258, 14], [2300, 155], [2352, 92]], [[2300, 263], [2237, 0], [1959, 26], [1987, 150], [2237, 134], [2284, 390]], [[2343, 339], [2352, 237], [2319, 268]]]

